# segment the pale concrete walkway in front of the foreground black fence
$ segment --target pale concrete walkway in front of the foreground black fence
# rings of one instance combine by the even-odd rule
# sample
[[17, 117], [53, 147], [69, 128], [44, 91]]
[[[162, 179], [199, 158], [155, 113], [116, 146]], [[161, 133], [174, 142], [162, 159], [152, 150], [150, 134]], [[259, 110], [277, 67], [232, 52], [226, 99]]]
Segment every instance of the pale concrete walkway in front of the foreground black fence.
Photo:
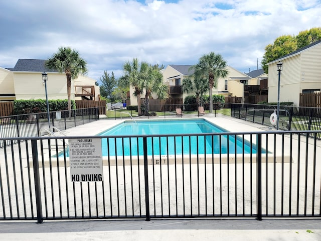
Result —
[[319, 219], [0, 222], [0, 240], [321, 240]]

